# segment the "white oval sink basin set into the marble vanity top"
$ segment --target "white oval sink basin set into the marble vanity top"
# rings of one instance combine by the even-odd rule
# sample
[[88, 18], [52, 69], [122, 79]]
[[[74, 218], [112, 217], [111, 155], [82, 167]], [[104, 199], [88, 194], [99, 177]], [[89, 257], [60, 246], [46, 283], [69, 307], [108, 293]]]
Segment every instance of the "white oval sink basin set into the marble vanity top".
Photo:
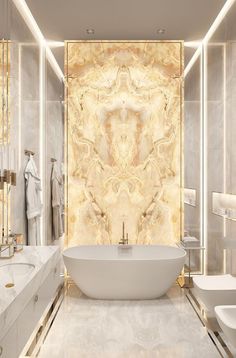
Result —
[[29, 263], [12, 263], [0, 265], [0, 287], [14, 287], [33, 272], [35, 265]]

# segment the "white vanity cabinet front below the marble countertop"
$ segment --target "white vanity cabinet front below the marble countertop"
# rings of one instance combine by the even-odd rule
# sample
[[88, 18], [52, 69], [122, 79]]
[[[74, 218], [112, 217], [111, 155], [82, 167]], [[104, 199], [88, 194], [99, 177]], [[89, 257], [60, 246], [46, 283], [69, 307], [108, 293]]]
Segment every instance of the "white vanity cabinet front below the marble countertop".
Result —
[[60, 261], [53, 267], [0, 342], [0, 358], [17, 358], [62, 284]]

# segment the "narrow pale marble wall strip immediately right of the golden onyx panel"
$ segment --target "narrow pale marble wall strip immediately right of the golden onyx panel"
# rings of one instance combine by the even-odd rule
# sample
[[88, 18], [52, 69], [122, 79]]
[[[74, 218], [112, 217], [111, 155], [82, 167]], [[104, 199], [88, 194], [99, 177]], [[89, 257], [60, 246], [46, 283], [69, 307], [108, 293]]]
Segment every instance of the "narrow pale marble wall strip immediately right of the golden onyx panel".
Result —
[[[184, 106], [184, 187], [196, 191], [195, 206], [184, 205], [184, 230], [200, 239], [200, 57], [185, 78]], [[200, 271], [200, 252], [194, 253], [194, 270]]]

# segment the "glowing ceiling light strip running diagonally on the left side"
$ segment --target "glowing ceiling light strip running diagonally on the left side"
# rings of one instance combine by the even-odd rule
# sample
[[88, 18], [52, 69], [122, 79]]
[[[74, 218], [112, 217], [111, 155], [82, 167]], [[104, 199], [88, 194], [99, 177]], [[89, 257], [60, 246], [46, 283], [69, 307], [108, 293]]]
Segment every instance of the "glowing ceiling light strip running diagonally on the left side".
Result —
[[25, 0], [12, 0], [15, 4], [16, 8], [18, 9], [19, 13], [25, 20], [25, 23], [31, 30], [32, 34], [34, 35], [37, 42], [40, 44], [40, 46], [45, 48], [45, 52], [48, 58], [48, 61], [50, 62], [52, 68], [54, 69], [55, 73], [59, 77], [59, 79], [64, 80], [64, 74], [58, 65], [47, 41], [45, 40], [40, 28], [38, 27], [37, 22], [35, 21], [35, 18], [33, 17], [28, 5], [26, 4]]

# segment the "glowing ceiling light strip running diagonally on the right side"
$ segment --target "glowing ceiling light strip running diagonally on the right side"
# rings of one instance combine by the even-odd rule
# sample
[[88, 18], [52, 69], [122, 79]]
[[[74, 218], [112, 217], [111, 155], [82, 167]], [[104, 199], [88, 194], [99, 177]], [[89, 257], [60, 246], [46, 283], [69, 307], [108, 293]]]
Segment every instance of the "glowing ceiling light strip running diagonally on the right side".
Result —
[[206, 33], [205, 37], [203, 38], [203, 40], [199, 43], [199, 46], [197, 48], [197, 50], [195, 51], [193, 57], [191, 58], [191, 60], [189, 61], [189, 63], [187, 64], [187, 66], [185, 67], [184, 70], [184, 77], [187, 76], [187, 74], [189, 73], [189, 71], [191, 70], [192, 66], [194, 65], [194, 63], [196, 62], [198, 56], [201, 53], [201, 46], [205, 45], [210, 38], [212, 37], [212, 35], [214, 34], [214, 32], [216, 31], [216, 29], [219, 27], [219, 25], [221, 24], [221, 22], [223, 21], [224, 17], [227, 15], [229, 9], [231, 8], [231, 6], [235, 3], [235, 0], [227, 0], [224, 4], [224, 6], [222, 7], [222, 9], [220, 10], [219, 14], [217, 15], [217, 17], [215, 18], [215, 21], [213, 22], [213, 24], [211, 25], [211, 27], [209, 28], [208, 32]]

